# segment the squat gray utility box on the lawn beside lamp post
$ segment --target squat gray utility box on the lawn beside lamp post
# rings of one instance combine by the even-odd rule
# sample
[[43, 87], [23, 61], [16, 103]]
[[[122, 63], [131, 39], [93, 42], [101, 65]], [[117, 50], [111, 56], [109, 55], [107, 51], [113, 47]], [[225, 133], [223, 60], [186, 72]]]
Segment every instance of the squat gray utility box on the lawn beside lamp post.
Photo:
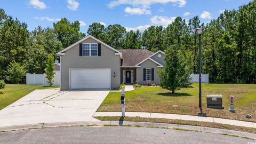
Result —
[[207, 108], [224, 109], [222, 105], [222, 95], [206, 95]]

